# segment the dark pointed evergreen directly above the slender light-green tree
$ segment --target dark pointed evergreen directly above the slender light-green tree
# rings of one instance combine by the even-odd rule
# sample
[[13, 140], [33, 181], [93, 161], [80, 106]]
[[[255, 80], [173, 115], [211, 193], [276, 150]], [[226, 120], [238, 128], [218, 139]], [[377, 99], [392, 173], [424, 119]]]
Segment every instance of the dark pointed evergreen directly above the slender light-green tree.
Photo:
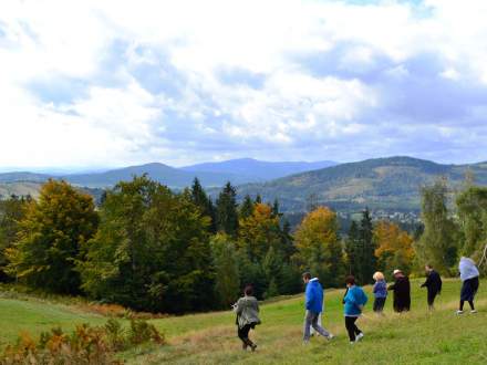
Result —
[[236, 189], [230, 182], [224, 187], [217, 199], [217, 228], [231, 237], [237, 237], [238, 212], [236, 201]]

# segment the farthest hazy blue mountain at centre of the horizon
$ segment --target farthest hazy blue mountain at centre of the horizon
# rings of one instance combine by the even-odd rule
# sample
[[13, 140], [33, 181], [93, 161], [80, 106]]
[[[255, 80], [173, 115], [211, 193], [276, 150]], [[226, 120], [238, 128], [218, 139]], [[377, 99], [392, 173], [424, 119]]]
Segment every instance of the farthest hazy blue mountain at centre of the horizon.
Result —
[[303, 171], [317, 170], [324, 167], [335, 166], [334, 161], [260, 161], [253, 158], [230, 159], [221, 163], [205, 163], [193, 166], [186, 166], [182, 169], [185, 171], [206, 171], [215, 174], [234, 174], [241, 179], [251, 181], [266, 181], [277, 179], [288, 175]]

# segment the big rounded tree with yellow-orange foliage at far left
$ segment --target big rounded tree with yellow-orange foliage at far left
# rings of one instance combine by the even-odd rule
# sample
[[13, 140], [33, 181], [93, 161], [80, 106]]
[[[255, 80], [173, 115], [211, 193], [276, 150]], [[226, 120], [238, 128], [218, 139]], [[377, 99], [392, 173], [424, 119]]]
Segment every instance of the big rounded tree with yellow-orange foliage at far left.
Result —
[[43, 185], [38, 202], [29, 205], [19, 240], [7, 250], [8, 272], [28, 285], [58, 293], [77, 293], [75, 262], [96, 232], [99, 217], [91, 196], [65, 181]]

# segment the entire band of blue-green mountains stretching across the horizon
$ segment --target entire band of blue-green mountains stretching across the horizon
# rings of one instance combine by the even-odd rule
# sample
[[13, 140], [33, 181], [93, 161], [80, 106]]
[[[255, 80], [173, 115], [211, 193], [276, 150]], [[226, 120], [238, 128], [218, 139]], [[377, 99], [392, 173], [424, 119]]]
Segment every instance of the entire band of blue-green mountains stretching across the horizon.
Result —
[[[89, 188], [105, 188], [133, 175], [147, 173], [173, 188], [189, 186], [195, 176], [217, 197], [220, 187], [231, 181], [238, 198], [260, 195], [265, 201], [276, 198], [284, 212], [302, 212], [309, 205], [327, 205], [340, 211], [355, 211], [369, 207], [394, 211], [419, 210], [419, 189], [438, 177], [448, 180], [452, 191], [462, 188], [467, 171], [478, 185], [487, 185], [487, 163], [442, 165], [411, 157], [388, 157], [327, 167], [323, 163], [265, 163], [238, 159], [174, 168], [148, 164], [97, 174], [68, 175], [62, 178]], [[324, 168], [302, 171], [305, 168]], [[283, 174], [291, 174], [282, 176]], [[272, 178], [278, 176], [278, 178]], [[281, 177], [282, 176], [282, 177]], [[49, 175], [30, 173], [0, 174], [0, 195], [32, 190], [35, 196]], [[60, 178], [59, 176], [53, 176]], [[251, 182], [249, 182], [251, 181]], [[17, 189], [17, 190], [15, 190]]]

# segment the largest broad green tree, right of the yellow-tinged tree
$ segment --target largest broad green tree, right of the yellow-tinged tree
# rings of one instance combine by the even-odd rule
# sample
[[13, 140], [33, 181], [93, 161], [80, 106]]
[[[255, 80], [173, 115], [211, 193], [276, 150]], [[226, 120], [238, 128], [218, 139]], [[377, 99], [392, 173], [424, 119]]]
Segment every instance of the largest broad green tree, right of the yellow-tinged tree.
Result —
[[153, 312], [215, 306], [209, 218], [188, 192], [135, 177], [107, 194], [100, 215], [79, 265], [91, 298]]

